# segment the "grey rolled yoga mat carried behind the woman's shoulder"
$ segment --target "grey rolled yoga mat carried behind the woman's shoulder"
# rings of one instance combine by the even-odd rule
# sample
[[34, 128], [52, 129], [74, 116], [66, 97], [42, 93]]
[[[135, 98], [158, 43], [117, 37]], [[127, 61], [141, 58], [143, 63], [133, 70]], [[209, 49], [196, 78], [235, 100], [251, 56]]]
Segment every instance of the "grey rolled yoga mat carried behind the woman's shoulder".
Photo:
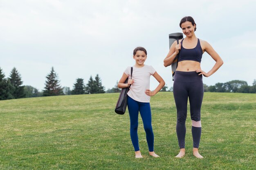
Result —
[[[178, 42], [178, 40], [182, 39], [182, 38], [183, 38], [183, 33], [171, 33], [171, 34], [169, 34], [169, 49], [171, 48], [171, 45], [173, 44], [174, 41]], [[179, 54], [176, 55], [175, 59], [173, 60], [173, 63], [171, 64], [173, 80], [174, 80], [176, 68], [178, 66], [178, 56], [179, 56]]]

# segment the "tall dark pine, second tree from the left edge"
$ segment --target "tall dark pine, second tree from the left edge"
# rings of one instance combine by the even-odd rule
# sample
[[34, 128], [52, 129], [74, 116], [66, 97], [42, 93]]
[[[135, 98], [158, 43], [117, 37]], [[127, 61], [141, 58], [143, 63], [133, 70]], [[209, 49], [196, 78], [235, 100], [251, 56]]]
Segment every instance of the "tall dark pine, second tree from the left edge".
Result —
[[11, 85], [13, 85], [13, 87], [14, 87], [12, 96], [14, 98], [24, 98], [25, 93], [24, 93], [24, 86], [22, 86], [23, 82], [21, 81], [20, 74], [19, 74], [18, 70], [16, 70], [15, 67], [11, 70], [9, 80], [10, 80]]

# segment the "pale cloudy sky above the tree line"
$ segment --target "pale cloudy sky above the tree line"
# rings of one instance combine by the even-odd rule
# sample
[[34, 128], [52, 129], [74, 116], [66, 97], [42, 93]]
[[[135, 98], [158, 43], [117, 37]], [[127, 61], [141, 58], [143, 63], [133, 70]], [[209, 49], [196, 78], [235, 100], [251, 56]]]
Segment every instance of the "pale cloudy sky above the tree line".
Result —
[[[6, 77], [15, 67], [23, 85], [39, 90], [52, 67], [61, 86], [76, 78], [88, 83], [99, 74], [106, 89], [114, 87], [132, 52], [146, 48], [152, 65], [173, 86], [171, 66], [164, 67], [168, 34], [182, 32], [184, 16], [197, 24], [196, 37], [207, 41], [224, 64], [206, 85], [256, 79], [255, 0], [0, 0], [0, 68]], [[204, 52], [201, 68], [215, 61]], [[158, 82], [150, 78], [150, 89]]]

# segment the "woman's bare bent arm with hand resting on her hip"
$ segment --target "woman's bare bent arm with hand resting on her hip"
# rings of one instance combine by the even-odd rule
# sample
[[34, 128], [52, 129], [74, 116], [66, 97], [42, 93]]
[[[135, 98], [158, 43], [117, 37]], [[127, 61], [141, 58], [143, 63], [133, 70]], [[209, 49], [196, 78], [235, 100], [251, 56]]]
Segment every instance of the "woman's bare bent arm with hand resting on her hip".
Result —
[[207, 73], [204, 72], [203, 70], [195, 70], [195, 71], [200, 72], [200, 74], [198, 75], [203, 74], [205, 77], [209, 77], [220, 68], [220, 66], [223, 64], [223, 61], [220, 58], [219, 54], [212, 48], [212, 46], [207, 41], [202, 41], [202, 42], [204, 46], [204, 51], [206, 51], [211, 56], [211, 58], [213, 58], [216, 61], [216, 63], [215, 65], [213, 65], [213, 68]]

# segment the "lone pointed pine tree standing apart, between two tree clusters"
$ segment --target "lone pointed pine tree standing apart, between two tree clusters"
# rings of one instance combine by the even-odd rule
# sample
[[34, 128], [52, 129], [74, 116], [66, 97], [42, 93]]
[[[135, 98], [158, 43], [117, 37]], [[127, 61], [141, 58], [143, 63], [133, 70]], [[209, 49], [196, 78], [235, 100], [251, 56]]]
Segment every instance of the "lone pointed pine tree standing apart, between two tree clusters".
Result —
[[51, 72], [46, 76], [45, 90], [43, 90], [43, 96], [58, 96], [63, 95], [63, 89], [59, 84], [58, 75], [52, 67]]

